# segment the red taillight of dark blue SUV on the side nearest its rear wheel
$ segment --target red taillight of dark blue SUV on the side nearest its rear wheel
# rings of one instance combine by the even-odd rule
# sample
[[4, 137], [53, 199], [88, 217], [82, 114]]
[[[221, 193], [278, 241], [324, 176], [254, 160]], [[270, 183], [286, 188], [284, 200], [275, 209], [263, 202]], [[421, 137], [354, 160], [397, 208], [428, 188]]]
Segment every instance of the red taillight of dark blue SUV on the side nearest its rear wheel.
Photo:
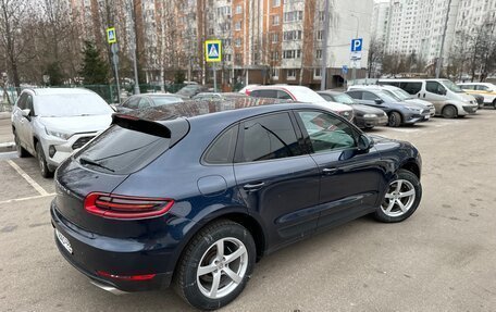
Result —
[[136, 220], [165, 214], [174, 200], [165, 198], [145, 198], [103, 192], [90, 192], [85, 198], [85, 210], [109, 219]]

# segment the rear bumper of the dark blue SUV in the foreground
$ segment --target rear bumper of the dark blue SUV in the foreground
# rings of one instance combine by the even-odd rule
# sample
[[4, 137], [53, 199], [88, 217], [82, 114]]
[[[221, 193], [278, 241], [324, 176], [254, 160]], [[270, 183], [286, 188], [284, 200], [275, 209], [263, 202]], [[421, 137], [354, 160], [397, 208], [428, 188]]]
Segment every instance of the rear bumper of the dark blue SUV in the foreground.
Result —
[[[64, 220], [53, 203], [50, 213], [52, 226], [70, 241], [73, 250], [70, 253], [54, 235], [60, 253], [80, 273], [95, 282], [98, 287], [131, 292], [170, 286], [174, 267], [171, 259], [175, 258], [172, 257], [173, 251], [171, 252], [170, 249], [162, 247], [160, 242], [115, 239], [87, 233]], [[124, 276], [157, 275], [147, 280], [122, 280], [102, 277], [97, 274], [97, 271]]]

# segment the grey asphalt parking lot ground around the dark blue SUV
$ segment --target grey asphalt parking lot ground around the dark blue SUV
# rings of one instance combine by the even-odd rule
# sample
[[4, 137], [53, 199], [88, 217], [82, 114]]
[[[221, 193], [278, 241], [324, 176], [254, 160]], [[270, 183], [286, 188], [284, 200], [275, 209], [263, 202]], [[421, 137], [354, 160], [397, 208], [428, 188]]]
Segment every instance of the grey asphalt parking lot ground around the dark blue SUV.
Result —
[[[370, 132], [422, 153], [412, 217], [362, 217], [261, 260], [223, 311], [496, 311], [496, 111]], [[0, 154], [0, 311], [190, 311], [171, 290], [114, 296], [60, 254], [53, 180]]]

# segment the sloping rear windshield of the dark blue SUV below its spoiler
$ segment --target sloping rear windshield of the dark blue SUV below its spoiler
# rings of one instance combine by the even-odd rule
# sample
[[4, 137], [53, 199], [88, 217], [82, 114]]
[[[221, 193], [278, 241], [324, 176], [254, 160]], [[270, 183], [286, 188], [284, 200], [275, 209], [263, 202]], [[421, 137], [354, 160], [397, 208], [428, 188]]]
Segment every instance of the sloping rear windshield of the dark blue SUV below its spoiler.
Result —
[[171, 130], [169, 137], [152, 130], [139, 130], [125, 125], [112, 125], [79, 153], [77, 160], [82, 165], [109, 174], [131, 174], [144, 169], [154, 159], [181, 140], [188, 132], [186, 120], [168, 122]]

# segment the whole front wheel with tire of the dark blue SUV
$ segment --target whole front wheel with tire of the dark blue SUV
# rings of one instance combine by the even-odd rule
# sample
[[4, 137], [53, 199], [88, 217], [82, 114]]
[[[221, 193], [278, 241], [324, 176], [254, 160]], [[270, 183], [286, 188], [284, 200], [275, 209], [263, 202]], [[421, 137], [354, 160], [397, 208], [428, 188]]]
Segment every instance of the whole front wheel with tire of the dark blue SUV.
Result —
[[374, 216], [385, 223], [401, 222], [416, 212], [421, 199], [420, 179], [410, 171], [399, 170]]

